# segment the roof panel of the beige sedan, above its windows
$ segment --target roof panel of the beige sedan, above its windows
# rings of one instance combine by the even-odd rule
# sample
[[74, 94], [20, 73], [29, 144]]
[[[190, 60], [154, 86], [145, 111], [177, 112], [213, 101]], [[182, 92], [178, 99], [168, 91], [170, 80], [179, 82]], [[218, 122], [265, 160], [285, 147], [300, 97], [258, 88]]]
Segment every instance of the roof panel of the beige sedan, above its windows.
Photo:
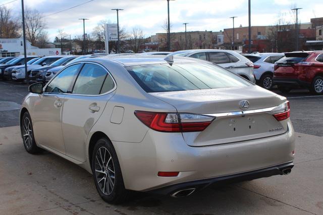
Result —
[[[170, 63], [170, 61], [165, 60], [165, 56], [160, 56], [160, 55], [145, 55], [145, 56], [140, 56], [140, 55], [109, 56], [107, 55], [107, 56], [100, 56], [96, 58], [85, 58], [85, 59], [81, 59], [80, 61], [86, 61], [86, 60], [95, 61], [97, 59], [112, 60], [115, 62], [119, 62], [124, 66]], [[211, 63], [205, 60], [198, 60], [195, 58], [179, 57], [179, 56], [174, 56], [173, 60], [174, 60], [173, 63], [192, 63], [192, 62]], [[77, 62], [80, 62], [80, 61], [77, 61]]]

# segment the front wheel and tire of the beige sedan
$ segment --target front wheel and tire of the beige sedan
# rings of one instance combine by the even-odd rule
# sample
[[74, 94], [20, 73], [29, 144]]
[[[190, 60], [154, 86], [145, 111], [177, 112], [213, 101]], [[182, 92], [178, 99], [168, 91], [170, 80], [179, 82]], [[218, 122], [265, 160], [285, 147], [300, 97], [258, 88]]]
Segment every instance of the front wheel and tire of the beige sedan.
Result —
[[41, 150], [36, 145], [35, 137], [34, 137], [34, 129], [28, 112], [25, 112], [24, 115], [22, 116], [20, 130], [21, 130], [21, 136], [22, 136], [26, 151], [30, 154], [39, 153]]

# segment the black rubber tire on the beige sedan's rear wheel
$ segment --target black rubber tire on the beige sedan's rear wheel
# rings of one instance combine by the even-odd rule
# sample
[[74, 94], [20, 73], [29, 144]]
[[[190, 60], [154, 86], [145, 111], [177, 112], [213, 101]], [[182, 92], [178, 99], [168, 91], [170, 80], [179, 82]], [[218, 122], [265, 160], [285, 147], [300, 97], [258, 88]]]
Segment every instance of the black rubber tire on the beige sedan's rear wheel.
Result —
[[[105, 152], [104, 156], [103, 151]], [[107, 152], [109, 152], [109, 154]], [[99, 153], [101, 153], [104, 159], [100, 159], [101, 157]], [[111, 161], [109, 162], [109, 156], [112, 158], [112, 163]], [[101, 165], [102, 163], [103, 165]], [[119, 204], [129, 198], [130, 191], [125, 189], [118, 157], [109, 139], [103, 137], [97, 140], [92, 153], [91, 165], [96, 190], [104, 201], [108, 203]], [[112, 171], [112, 165], [114, 165], [114, 173]], [[114, 183], [112, 183], [113, 175]], [[104, 182], [100, 182], [100, 180], [102, 180], [102, 178], [104, 177], [105, 179], [107, 178], [107, 180], [103, 179]], [[114, 186], [111, 191], [112, 184], [114, 184]], [[105, 187], [105, 185], [107, 186]]]

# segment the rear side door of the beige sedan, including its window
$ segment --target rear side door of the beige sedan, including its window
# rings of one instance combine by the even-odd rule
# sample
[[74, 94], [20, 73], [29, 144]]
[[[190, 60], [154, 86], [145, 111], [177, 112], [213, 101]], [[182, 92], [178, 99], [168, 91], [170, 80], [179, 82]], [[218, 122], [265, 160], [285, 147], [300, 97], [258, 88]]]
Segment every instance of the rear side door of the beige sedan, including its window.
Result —
[[66, 155], [86, 161], [85, 143], [92, 126], [114, 94], [115, 83], [108, 71], [96, 63], [85, 63], [72, 94], [66, 95], [62, 128]]

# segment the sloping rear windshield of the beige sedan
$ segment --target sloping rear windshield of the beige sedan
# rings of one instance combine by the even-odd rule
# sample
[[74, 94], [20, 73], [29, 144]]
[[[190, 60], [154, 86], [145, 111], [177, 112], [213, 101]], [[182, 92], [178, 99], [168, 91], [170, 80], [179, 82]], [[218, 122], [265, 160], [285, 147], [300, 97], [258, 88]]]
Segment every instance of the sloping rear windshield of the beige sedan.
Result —
[[230, 71], [206, 63], [174, 63], [127, 66], [147, 93], [251, 86]]

